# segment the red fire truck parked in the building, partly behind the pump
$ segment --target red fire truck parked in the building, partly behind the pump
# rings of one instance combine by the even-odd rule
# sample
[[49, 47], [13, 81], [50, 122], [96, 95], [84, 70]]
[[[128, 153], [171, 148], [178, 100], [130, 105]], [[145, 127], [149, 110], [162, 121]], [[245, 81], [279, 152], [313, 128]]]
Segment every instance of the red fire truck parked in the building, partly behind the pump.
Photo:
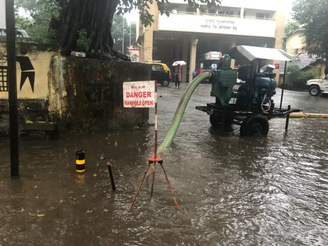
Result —
[[197, 74], [211, 72], [216, 69], [218, 61], [221, 59], [222, 53], [217, 51], [209, 51], [197, 57], [196, 71]]

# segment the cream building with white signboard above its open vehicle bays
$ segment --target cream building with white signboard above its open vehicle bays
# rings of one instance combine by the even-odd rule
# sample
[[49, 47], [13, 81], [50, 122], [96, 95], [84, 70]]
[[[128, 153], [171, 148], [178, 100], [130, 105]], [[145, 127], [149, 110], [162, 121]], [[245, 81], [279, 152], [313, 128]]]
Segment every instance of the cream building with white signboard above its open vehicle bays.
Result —
[[184, 60], [188, 65], [182, 68], [183, 82], [191, 81], [196, 57], [205, 52], [226, 53], [236, 45], [283, 48], [286, 11], [282, 0], [223, 0], [216, 9], [205, 4], [194, 9], [188, 2], [172, 0], [170, 6], [167, 17], [160, 15], [154, 3], [149, 10], [154, 23], [147, 27], [139, 23], [140, 61], [161, 60], [170, 66]]

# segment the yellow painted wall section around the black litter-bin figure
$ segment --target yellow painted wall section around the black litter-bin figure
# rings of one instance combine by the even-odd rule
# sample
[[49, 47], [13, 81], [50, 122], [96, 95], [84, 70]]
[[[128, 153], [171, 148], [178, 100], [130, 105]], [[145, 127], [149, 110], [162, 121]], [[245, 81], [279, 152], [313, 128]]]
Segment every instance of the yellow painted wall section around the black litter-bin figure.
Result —
[[[17, 97], [19, 99], [45, 99], [48, 96], [48, 72], [50, 59], [53, 55], [58, 54], [58, 48], [52, 44], [35, 44], [29, 42], [17, 42], [17, 55], [28, 56], [34, 67], [35, 82], [34, 93], [27, 79], [20, 90], [21, 68], [17, 63]], [[26, 54], [22, 54], [25, 53]], [[6, 40], [0, 40], [0, 53], [6, 54]], [[0, 66], [7, 66], [1, 64]], [[8, 99], [8, 92], [0, 92], [0, 99]]]

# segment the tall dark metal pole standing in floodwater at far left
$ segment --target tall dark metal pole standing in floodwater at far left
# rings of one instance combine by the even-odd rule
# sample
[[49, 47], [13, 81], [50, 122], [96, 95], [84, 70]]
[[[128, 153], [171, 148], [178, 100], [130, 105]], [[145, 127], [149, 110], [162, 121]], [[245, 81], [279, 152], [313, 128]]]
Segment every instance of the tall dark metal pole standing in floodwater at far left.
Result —
[[16, 29], [14, 0], [6, 0], [7, 29], [7, 82], [9, 91], [10, 164], [11, 176], [19, 176], [17, 81], [16, 81]]

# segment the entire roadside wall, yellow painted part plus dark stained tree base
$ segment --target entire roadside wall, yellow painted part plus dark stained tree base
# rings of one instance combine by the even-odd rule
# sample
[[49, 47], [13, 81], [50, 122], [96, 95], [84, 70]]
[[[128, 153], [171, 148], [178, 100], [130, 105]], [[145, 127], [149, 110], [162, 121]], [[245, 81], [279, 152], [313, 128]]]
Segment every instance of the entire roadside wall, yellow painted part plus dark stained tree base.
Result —
[[[123, 82], [150, 80], [150, 65], [63, 57], [56, 43], [28, 39], [18, 39], [16, 48], [17, 55], [30, 58], [35, 72], [34, 92], [28, 79], [20, 90], [17, 63], [20, 118], [49, 119], [71, 133], [131, 128], [148, 120], [148, 108], [123, 107]], [[0, 54], [6, 53], [6, 39], [0, 37]], [[7, 132], [8, 92], [0, 92], [0, 121], [0, 132]]]

